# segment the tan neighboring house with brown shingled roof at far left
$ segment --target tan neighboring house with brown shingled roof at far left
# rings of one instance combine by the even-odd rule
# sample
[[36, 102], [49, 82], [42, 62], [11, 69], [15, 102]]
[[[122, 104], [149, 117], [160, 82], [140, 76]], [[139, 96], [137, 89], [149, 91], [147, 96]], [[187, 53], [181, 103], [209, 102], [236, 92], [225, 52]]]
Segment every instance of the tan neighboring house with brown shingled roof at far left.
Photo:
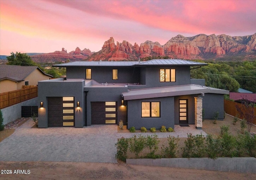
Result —
[[44, 73], [37, 66], [0, 65], [0, 93], [22, 89], [24, 85], [38, 85], [52, 75]]

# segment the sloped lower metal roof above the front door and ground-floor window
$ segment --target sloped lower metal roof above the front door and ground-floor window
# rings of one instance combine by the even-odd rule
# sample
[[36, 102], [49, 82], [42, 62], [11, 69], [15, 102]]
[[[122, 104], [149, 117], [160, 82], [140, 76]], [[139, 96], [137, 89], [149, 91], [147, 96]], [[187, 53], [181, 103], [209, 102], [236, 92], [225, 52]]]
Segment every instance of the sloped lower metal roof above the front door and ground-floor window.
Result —
[[182, 85], [182, 86], [168, 86], [168, 87], [160, 87], [160, 88], [130, 90], [129, 92], [122, 93], [122, 96], [124, 97], [124, 100], [136, 100], [136, 99], [182, 96], [182, 95], [201, 94], [201, 93], [228, 94], [229, 91], [206, 87], [206, 86], [188, 84], [188, 85]]

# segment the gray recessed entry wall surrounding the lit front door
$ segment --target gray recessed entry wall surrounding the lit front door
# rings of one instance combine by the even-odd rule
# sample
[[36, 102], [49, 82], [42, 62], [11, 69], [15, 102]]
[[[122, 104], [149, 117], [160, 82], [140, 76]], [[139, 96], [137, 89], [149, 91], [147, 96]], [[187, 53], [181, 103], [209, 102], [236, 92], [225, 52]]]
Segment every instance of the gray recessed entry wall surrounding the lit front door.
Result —
[[179, 124], [179, 100], [187, 99], [188, 100], [188, 123], [195, 123], [195, 99], [198, 95], [187, 95], [187, 96], [175, 96], [174, 98], [174, 106], [175, 106], [175, 124]]

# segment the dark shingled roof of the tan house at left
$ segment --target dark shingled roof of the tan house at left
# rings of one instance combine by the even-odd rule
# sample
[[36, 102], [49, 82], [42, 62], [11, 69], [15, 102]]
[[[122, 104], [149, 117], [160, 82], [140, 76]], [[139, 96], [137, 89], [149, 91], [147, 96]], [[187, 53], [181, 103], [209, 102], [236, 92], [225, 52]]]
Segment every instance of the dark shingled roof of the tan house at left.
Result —
[[40, 70], [46, 76], [52, 77], [52, 75], [44, 73], [37, 66], [0, 65], [0, 80], [8, 79], [20, 82], [36, 69]]

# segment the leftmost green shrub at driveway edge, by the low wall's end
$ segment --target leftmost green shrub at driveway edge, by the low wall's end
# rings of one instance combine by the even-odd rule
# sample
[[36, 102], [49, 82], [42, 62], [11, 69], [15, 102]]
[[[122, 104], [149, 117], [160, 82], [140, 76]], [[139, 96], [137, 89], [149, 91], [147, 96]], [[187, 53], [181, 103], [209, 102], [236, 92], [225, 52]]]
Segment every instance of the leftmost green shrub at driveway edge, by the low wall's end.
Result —
[[125, 162], [127, 158], [128, 139], [124, 137], [122, 137], [121, 139], [118, 139], [115, 146], [117, 149], [116, 159], [119, 159]]

